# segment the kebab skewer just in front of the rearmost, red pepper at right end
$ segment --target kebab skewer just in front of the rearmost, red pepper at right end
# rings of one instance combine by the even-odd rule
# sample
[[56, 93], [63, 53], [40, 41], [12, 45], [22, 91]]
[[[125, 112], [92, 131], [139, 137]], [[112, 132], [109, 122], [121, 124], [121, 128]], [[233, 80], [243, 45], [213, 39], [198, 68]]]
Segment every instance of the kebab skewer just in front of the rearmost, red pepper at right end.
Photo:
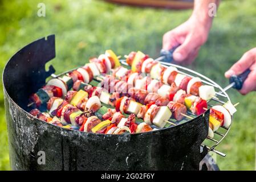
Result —
[[[117, 72], [118, 73], [118, 72]], [[116, 75], [115, 73], [113, 75]], [[109, 76], [99, 76], [96, 78], [96, 80], [98, 81], [103, 81], [103, 82], [109, 82], [109, 80], [104, 81], [104, 78], [107, 77], [107, 79], [109, 78]], [[157, 95], [159, 94], [159, 96], [162, 98], [159, 103], [164, 105], [166, 100], [168, 102], [169, 101], [174, 101], [174, 102], [179, 102], [182, 105], [185, 105], [187, 107], [187, 109], [191, 110], [193, 114], [196, 115], [200, 115], [202, 113], [204, 113], [204, 109], [203, 107], [207, 107], [207, 102], [205, 100], [202, 100], [200, 97], [196, 97], [196, 96], [192, 96], [191, 94], [186, 94], [186, 92], [184, 90], [179, 90], [179, 88], [173, 83], [172, 86], [169, 85], [164, 85], [159, 81], [156, 80], [151, 80], [151, 78], [149, 77], [144, 77], [143, 79], [141, 79], [142, 81], [140, 81], [141, 75], [139, 75], [138, 73], [132, 73], [131, 75], [123, 75], [120, 78], [120, 82], [116, 82], [113, 79], [110, 78], [110, 80], [112, 82], [114, 82], [116, 85], [118, 85], [120, 88], [125, 88], [124, 82], [126, 82], [131, 86], [135, 86], [134, 88], [131, 89], [127, 89], [129, 94], [129, 97], [134, 97], [134, 93], [133, 92], [140, 92], [139, 94], [142, 95], [142, 98], [145, 98], [148, 94], [148, 92], [150, 93], [150, 95]], [[149, 79], [148, 79], [149, 78]], [[125, 80], [125, 81], [123, 81]], [[155, 82], [154, 82], [155, 81]], [[111, 87], [112, 85], [115, 86], [115, 84], [107, 84], [107, 86], [109, 85], [109, 87]], [[123, 85], [121, 85], [123, 84]], [[139, 84], [139, 86], [138, 86]], [[126, 86], [127, 87], [127, 86]], [[111, 90], [109, 90], [109, 92], [111, 92]], [[112, 90], [113, 92], [113, 90]], [[165, 98], [165, 100], [164, 100]], [[135, 97], [135, 100], [140, 102], [140, 103], [144, 103], [144, 99], [141, 100], [140, 97]], [[147, 100], [147, 99], [146, 99]], [[166, 103], [167, 104], [167, 103]], [[157, 104], [158, 105], [158, 104]], [[185, 114], [185, 113], [183, 113]]]

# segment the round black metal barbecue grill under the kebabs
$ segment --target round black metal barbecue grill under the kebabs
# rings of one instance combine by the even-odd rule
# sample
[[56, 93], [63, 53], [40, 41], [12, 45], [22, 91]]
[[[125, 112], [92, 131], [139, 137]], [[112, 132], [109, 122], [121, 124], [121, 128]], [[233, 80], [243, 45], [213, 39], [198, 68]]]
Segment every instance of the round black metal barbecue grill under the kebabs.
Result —
[[[209, 151], [225, 156], [216, 146], [230, 130], [216, 131], [208, 138], [209, 110], [196, 116], [188, 113], [176, 125], [140, 134], [102, 135], [67, 130], [28, 113], [28, 98], [54, 75], [55, 36], [30, 43], [7, 62], [3, 71], [3, 88], [9, 136], [11, 168], [14, 170], [198, 170]], [[163, 57], [157, 59], [163, 60]], [[125, 64], [124, 61], [121, 61]], [[230, 101], [224, 89], [208, 77], [175, 64], [180, 73], [197, 76], [218, 90], [209, 106]], [[232, 118], [233, 120], [233, 118]], [[171, 120], [170, 120], [171, 121]], [[174, 121], [173, 121], [174, 122]], [[46, 164], [38, 164], [38, 152], [45, 152]], [[204, 169], [204, 168], [203, 168]]]

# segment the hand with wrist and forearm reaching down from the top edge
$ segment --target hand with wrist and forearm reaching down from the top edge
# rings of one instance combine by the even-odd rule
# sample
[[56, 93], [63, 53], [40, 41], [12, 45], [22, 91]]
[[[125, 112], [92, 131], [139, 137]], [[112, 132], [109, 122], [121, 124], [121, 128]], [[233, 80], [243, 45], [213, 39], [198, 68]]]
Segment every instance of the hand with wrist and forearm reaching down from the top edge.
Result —
[[213, 16], [209, 15], [209, 5], [218, 7], [220, 0], [194, 0], [194, 10], [190, 18], [177, 28], [166, 32], [162, 40], [162, 48], [173, 52], [174, 61], [191, 63], [198, 54], [200, 47], [206, 42]]

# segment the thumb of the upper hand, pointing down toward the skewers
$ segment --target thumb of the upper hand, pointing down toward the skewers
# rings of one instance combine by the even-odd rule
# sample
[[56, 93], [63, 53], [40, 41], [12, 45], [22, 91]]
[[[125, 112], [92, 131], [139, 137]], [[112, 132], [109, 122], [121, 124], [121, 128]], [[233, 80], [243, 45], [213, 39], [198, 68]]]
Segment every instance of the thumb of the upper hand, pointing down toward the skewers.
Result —
[[174, 51], [174, 60], [181, 62], [188, 59], [190, 53], [192, 53], [197, 47], [200, 47], [200, 43], [197, 40], [194, 40], [191, 36], [188, 36], [184, 43]]

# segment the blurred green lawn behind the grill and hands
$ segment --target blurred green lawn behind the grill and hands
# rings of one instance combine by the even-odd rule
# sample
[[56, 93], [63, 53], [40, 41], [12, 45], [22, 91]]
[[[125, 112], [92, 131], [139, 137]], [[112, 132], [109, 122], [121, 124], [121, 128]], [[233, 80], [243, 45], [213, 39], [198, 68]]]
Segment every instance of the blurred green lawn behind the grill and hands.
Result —
[[[46, 5], [46, 17], [38, 17], [38, 3]], [[214, 19], [209, 40], [189, 68], [227, 84], [224, 72], [250, 48], [256, 47], [256, 0], [223, 1]], [[0, 69], [18, 49], [35, 39], [56, 35], [58, 73], [86, 63], [89, 57], [113, 49], [117, 55], [141, 50], [159, 55], [162, 35], [189, 18], [192, 10], [155, 10], [117, 6], [102, 1], [0, 1]], [[0, 87], [0, 169], [10, 169], [2, 79]], [[253, 170], [255, 158], [256, 94], [241, 96], [229, 135], [217, 147], [223, 170]]]

